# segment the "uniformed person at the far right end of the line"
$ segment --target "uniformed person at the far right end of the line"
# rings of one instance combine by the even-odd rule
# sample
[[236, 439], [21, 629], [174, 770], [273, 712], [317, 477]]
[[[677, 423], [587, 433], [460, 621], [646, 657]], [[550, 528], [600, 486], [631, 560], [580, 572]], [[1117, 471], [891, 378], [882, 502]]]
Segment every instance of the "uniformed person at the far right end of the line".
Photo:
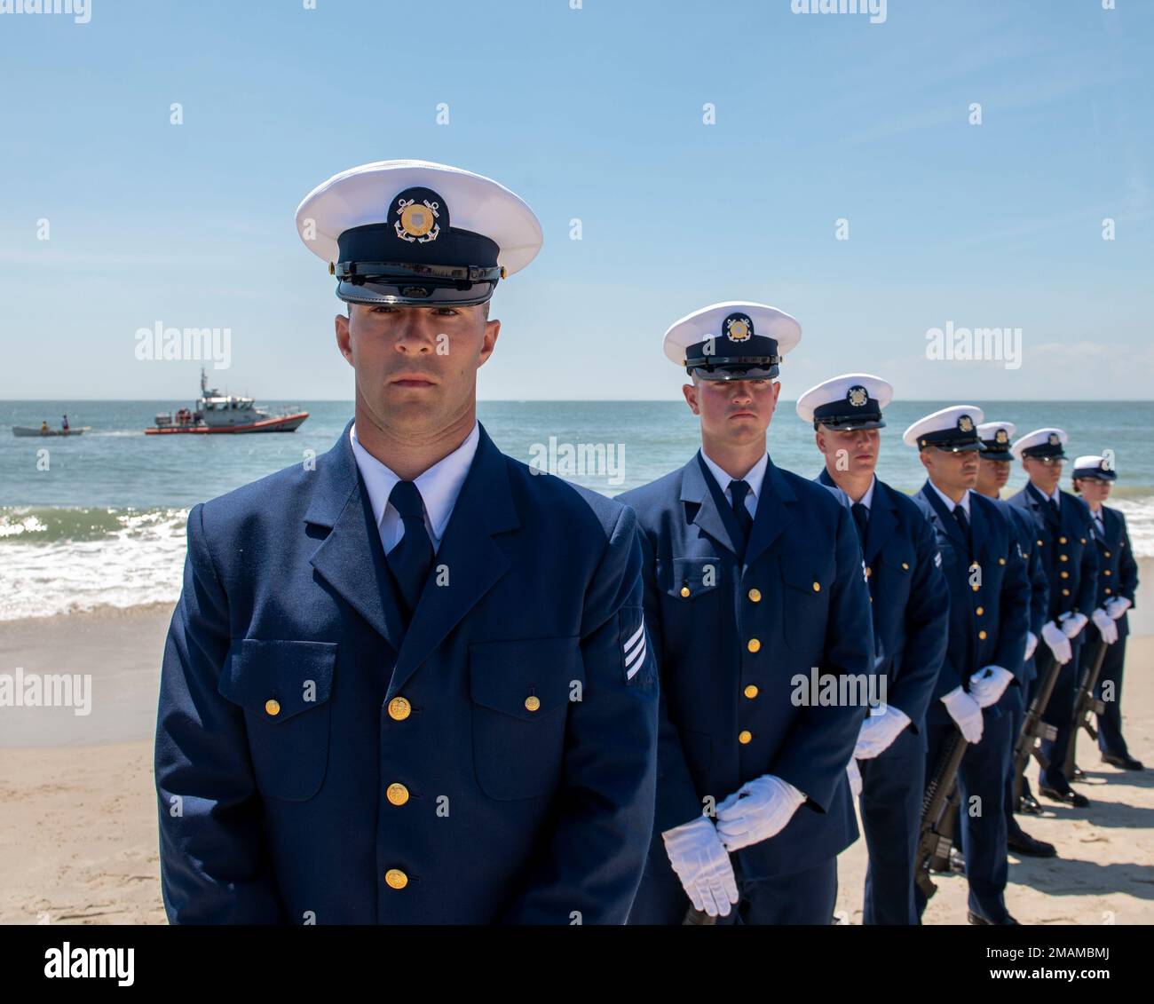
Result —
[[[1089, 644], [1081, 647], [1085, 660], [1092, 657], [1099, 639], [1110, 646], [1094, 689], [1095, 697], [1106, 709], [1097, 715], [1097, 747], [1102, 759], [1126, 771], [1140, 771], [1141, 761], [1130, 755], [1122, 735], [1122, 669], [1126, 659], [1126, 636], [1130, 634], [1126, 610], [1134, 605], [1138, 562], [1130, 545], [1126, 517], [1104, 504], [1117, 477], [1114, 464], [1103, 456], [1074, 460], [1073, 489], [1089, 508], [1099, 557], [1097, 606], [1086, 628]], [[1079, 667], [1079, 675], [1082, 668], [1085, 666]]]

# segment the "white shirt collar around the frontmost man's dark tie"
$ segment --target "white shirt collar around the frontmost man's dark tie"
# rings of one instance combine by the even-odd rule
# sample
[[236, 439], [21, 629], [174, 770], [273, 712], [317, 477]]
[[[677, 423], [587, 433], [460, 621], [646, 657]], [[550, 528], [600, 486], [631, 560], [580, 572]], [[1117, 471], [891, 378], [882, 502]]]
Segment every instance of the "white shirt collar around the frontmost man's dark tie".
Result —
[[[434, 550], [440, 545], [445, 525], [452, 515], [460, 486], [469, 475], [480, 437], [480, 425], [474, 421], [473, 430], [465, 437], [465, 442], [413, 480], [425, 502], [425, 526], [433, 540]], [[373, 505], [373, 518], [381, 529], [381, 544], [388, 554], [403, 534], [400, 515], [389, 505], [389, 495], [400, 480], [400, 475], [389, 470], [360, 444], [355, 422], [349, 429], [349, 439], [352, 442], [357, 466], [365, 479], [369, 503]]]

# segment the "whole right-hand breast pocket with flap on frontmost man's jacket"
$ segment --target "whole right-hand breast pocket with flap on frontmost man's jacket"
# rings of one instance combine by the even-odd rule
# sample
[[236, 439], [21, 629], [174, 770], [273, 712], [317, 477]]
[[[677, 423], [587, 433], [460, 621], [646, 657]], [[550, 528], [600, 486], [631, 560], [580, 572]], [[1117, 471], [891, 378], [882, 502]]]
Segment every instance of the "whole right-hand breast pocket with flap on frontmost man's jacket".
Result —
[[473, 769], [486, 795], [535, 799], [556, 787], [569, 704], [584, 685], [579, 638], [469, 646]]

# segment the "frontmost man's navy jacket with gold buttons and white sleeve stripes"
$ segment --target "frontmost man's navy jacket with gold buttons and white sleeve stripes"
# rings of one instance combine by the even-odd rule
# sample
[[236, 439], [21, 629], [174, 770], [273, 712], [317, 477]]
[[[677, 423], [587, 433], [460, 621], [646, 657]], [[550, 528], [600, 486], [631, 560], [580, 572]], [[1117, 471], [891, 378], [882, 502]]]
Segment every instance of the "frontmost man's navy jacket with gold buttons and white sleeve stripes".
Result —
[[196, 505], [156, 736], [168, 919], [623, 923], [655, 777], [640, 560], [631, 510], [484, 428], [407, 630], [347, 427]]

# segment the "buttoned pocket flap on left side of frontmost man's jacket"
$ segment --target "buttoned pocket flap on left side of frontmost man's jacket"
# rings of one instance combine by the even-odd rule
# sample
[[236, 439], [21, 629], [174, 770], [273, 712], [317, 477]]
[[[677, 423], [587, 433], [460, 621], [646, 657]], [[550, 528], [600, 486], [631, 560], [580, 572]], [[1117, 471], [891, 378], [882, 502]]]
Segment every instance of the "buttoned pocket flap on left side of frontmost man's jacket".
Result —
[[336, 642], [233, 640], [217, 690], [252, 714], [286, 721], [332, 692]]

